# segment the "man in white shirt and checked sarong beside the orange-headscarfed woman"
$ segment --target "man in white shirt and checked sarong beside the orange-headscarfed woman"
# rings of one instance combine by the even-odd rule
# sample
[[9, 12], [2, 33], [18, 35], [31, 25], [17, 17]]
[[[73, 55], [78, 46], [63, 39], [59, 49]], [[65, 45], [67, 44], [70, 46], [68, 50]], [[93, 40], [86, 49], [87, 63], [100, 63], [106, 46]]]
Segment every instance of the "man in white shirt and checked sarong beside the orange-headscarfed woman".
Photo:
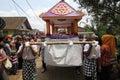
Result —
[[85, 80], [95, 80], [97, 78], [97, 62], [101, 54], [100, 45], [97, 39], [97, 36], [91, 36], [90, 40], [93, 41], [93, 44], [84, 45], [83, 74], [85, 76]]

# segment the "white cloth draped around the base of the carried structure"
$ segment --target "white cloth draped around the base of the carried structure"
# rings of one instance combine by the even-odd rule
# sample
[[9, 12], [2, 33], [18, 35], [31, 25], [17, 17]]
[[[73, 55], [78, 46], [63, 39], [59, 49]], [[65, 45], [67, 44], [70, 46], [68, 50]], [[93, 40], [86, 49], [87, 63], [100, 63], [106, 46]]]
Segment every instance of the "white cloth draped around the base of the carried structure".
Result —
[[[61, 40], [59, 39], [49, 41]], [[74, 39], [72, 41], [74, 41]], [[45, 46], [44, 61], [47, 65], [52, 66], [81, 66], [82, 44], [55, 44]]]

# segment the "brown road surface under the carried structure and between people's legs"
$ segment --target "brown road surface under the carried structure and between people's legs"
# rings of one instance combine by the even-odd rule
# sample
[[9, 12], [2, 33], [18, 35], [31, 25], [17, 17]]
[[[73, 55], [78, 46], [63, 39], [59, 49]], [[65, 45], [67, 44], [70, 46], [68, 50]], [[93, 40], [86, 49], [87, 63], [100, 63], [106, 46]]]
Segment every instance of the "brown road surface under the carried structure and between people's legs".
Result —
[[[36, 80], [83, 80], [82, 72], [80, 75], [75, 73], [75, 67], [53, 67], [47, 66], [47, 71], [41, 73], [41, 58], [37, 62], [37, 78]], [[18, 71], [18, 75], [10, 75], [10, 80], [22, 80], [22, 71]]]

